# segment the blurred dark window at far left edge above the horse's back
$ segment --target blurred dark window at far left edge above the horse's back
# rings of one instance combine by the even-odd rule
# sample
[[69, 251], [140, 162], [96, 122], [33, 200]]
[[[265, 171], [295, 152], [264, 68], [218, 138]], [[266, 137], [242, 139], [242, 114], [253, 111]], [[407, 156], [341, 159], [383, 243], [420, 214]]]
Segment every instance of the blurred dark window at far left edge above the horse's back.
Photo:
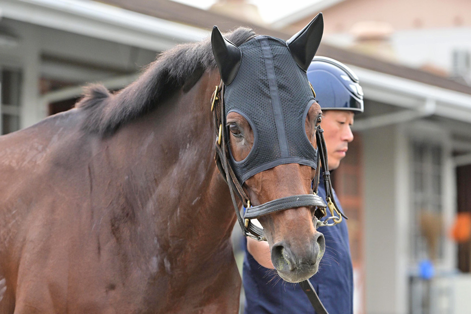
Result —
[[0, 86], [0, 131], [7, 134], [20, 129], [20, 71], [2, 69]]

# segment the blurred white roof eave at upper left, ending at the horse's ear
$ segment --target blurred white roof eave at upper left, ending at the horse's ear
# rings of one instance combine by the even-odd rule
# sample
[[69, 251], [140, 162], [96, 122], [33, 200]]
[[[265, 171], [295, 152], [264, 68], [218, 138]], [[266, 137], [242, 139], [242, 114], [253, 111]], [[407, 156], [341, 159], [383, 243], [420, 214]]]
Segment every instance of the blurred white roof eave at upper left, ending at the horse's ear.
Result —
[[209, 31], [94, 1], [6, 0], [4, 18], [161, 51]]

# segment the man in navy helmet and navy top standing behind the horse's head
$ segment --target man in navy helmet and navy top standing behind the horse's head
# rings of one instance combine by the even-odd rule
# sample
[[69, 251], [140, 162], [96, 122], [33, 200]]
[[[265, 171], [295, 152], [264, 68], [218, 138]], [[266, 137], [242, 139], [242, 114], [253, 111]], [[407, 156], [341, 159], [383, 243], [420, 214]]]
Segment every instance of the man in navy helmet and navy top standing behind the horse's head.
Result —
[[[328, 165], [329, 170], [334, 170], [345, 157], [348, 143], [354, 139], [350, 127], [354, 122], [354, 114], [363, 112], [362, 88], [351, 70], [326, 57], [315, 57], [307, 75], [316, 91], [316, 100], [322, 108], [321, 127], [327, 146]], [[322, 175], [318, 194], [325, 201]], [[335, 192], [334, 197], [340, 206]], [[310, 278], [330, 314], [353, 313], [353, 275], [348, 232], [344, 221], [318, 229], [324, 234], [326, 251], [318, 273]], [[245, 248], [245, 314], [315, 313], [298, 284], [284, 282], [277, 276], [273, 270], [267, 242], [247, 238]]]

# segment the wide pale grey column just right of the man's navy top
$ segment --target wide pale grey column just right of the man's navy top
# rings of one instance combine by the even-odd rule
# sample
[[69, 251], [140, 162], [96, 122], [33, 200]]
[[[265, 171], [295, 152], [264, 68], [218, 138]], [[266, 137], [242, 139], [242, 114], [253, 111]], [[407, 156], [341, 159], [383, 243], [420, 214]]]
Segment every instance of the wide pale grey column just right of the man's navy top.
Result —
[[[396, 207], [396, 128], [368, 130], [363, 135], [365, 156], [365, 279], [366, 313], [405, 314], [399, 295]], [[399, 241], [399, 243], [398, 243]], [[402, 303], [402, 304], [401, 304]]]

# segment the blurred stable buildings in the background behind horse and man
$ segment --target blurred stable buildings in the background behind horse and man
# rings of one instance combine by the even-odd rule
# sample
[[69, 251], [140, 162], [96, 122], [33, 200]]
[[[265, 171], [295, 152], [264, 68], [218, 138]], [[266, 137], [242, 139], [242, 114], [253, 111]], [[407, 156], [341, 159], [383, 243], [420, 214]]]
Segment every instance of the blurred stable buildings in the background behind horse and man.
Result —
[[288, 39], [319, 12], [318, 55], [365, 93], [333, 183], [356, 314], [471, 313], [468, 0], [0, 0], [0, 131], [70, 109], [88, 83], [120, 89], [213, 25]]

